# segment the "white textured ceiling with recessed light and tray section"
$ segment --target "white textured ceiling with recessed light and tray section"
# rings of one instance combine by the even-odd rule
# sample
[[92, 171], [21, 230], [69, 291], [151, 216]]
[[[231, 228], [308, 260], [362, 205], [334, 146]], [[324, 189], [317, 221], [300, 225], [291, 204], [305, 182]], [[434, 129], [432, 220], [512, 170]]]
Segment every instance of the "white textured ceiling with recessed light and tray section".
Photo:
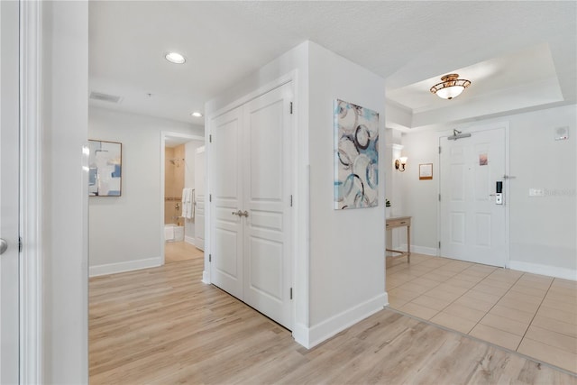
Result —
[[[90, 88], [123, 96], [120, 105], [91, 104], [202, 124], [188, 114], [306, 40], [385, 78], [389, 100], [414, 114], [413, 126], [575, 103], [576, 5], [91, 1]], [[169, 50], [187, 63], [169, 64]], [[446, 105], [428, 88], [455, 70], [473, 84]], [[510, 100], [531, 88], [542, 95], [488, 102], [491, 93]]]

